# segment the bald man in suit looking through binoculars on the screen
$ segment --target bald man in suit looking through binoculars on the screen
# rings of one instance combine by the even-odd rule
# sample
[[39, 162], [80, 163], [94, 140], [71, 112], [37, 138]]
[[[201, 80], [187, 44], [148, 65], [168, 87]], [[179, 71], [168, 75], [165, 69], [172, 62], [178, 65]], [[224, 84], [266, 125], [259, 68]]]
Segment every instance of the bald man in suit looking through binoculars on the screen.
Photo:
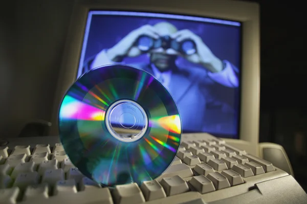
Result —
[[[200, 90], [201, 84], [210, 81], [230, 88], [238, 86], [238, 71], [234, 65], [218, 59], [198, 35], [187, 29], [178, 31], [168, 22], [131, 31], [112, 48], [102, 50], [88, 61], [83, 73], [105, 64], [123, 63], [126, 57], [145, 53], [150, 58], [149, 64], [130, 65], [149, 72], [168, 88], [179, 106], [185, 130], [202, 130], [206, 98]], [[193, 72], [194, 67], [181, 67], [176, 63], [178, 56], [201, 65], [207, 74]], [[206, 80], [208, 78], [210, 80]]]

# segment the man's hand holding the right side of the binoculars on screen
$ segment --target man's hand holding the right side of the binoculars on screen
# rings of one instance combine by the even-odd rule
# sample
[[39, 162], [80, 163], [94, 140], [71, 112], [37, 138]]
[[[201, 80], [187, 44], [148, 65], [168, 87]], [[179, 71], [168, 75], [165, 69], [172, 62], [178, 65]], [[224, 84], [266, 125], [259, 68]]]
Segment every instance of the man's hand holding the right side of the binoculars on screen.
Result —
[[185, 40], [192, 40], [195, 42], [196, 53], [183, 56], [188, 61], [202, 64], [210, 72], [220, 72], [223, 70], [223, 62], [211, 52], [200, 36], [185, 29], [172, 34], [171, 38], [176, 39], [178, 42], [183, 42]]

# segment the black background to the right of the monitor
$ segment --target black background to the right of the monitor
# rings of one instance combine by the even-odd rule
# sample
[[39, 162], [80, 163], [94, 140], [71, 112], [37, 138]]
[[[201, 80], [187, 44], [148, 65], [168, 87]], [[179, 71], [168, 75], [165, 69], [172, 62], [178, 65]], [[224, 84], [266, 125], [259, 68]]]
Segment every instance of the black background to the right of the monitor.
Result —
[[280, 144], [307, 191], [307, 15], [299, 1], [260, 4], [259, 142]]

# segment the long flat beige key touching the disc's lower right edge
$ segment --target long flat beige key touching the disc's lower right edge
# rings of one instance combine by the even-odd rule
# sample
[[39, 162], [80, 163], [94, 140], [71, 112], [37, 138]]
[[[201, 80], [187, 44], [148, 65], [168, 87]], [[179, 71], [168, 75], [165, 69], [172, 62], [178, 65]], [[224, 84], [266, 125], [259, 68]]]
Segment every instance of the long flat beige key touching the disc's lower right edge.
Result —
[[161, 176], [156, 178], [159, 182], [162, 178], [172, 177], [174, 175], [179, 175], [182, 178], [193, 176], [192, 169], [186, 164], [176, 164], [171, 165]]

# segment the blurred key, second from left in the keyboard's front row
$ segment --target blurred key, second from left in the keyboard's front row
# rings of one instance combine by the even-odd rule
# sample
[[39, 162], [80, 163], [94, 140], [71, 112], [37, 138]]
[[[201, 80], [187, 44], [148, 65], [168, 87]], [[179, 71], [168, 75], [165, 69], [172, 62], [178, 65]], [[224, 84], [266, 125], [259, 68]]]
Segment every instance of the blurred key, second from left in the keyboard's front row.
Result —
[[33, 200], [33, 203], [39, 198], [48, 198], [48, 184], [30, 185], [25, 191], [23, 200]]

